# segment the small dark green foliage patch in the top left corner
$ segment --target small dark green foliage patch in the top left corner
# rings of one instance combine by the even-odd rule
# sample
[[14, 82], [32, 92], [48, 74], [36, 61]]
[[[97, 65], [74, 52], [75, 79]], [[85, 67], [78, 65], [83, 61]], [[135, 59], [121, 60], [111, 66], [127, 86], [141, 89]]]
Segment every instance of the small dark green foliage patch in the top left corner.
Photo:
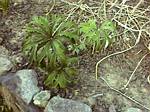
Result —
[[2, 10], [4, 13], [7, 13], [9, 5], [10, 0], [0, 0], [0, 10]]

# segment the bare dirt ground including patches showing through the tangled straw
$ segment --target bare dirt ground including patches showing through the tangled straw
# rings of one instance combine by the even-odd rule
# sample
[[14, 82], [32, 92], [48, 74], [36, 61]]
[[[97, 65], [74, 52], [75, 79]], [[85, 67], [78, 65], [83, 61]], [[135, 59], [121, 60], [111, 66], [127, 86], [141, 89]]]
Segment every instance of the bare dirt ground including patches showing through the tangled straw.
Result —
[[[89, 0], [85, 1], [84, 4], [88, 4], [88, 6], [94, 10], [94, 7], [97, 9], [96, 7], [102, 5], [102, 2]], [[144, 22], [147, 22], [148, 17], [150, 17], [150, 2], [148, 0], [138, 6], [138, 8], [140, 7], [142, 9], [135, 9], [135, 15], [131, 15], [130, 17], [128, 12], [134, 9], [133, 6], [139, 3], [138, 0], [127, 2], [126, 6], [123, 7], [121, 7], [121, 2], [117, 0], [116, 3], [111, 0], [107, 2], [108, 4], [105, 4], [107, 17], [111, 18], [116, 14], [115, 12], [122, 8], [122, 11], [119, 12], [120, 18], [116, 15], [116, 19], [129, 25], [128, 27], [138, 29], [138, 25], [141, 26]], [[72, 3], [72, 1], [69, 3]], [[115, 3], [114, 6], [112, 3]], [[53, 5], [54, 8], [52, 9]], [[0, 13], [0, 38], [2, 39], [0, 45], [8, 49], [9, 55], [16, 59], [17, 62], [18, 58], [16, 57], [21, 57], [21, 59], [23, 57], [21, 45], [24, 37], [24, 26], [31, 20], [32, 16], [44, 15], [51, 9], [53, 13], [68, 14], [71, 5], [73, 4], [69, 5], [62, 2], [56, 2], [55, 4], [53, 4], [53, 2], [44, 4], [35, 4], [33, 2], [28, 2], [27, 4], [11, 4], [7, 15], [2, 16], [2, 13]], [[112, 8], [110, 8], [111, 6]], [[143, 9], [147, 11], [144, 12]], [[144, 19], [141, 19], [142, 17], [136, 18], [139, 13], [142, 13], [138, 11], [143, 11], [142, 16], [144, 16]], [[91, 13], [88, 12], [81, 14], [83, 15], [80, 20], [88, 18], [91, 15]], [[77, 12], [76, 15], [71, 18], [76, 18], [78, 15], [80, 15], [80, 12]], [[105, 13], [99, 16], [98, 21], [102, 21], [105, 18]], [[147, 18], [145, 18], [145, 16], [147, 16]], [[137, 27], [133, 21], [127, 20], [129, 18], [135, 19], [134, 22]], [[116, 22], [116, 24], [119, 23]], [[149, 24], [147, 24], [145, 29], [148, 28], [148, 25]], [[90, 104], [93, 108], [93, 112], [114, 112], [112, 108], [115, 108], [117, 112], [124, 112], [129, 107], [137, 107], [143, 110], [143, 112], [150, 112], [150, 83], [147, 79], [150, 75], [150, 54], [148, 54], [150, 51], [147, 49], [149, 35], [143, 33], [140, 35], [140, 42], [138, 42], [133, 49], [120, 53], [119, 55], [111, 56], [102, 61], [98, 66], [98, 80], [95, 78], [95, 67], [99, 60], [111, 53], [130, 48], [137, 40], [135, 37], [139, 36], [136, 31], [134, 33], [134, 31], [129, 31], [130, 29], [126, 29], [126, 27], [118, 25], [117, 28], [118, 32], [123, 32], [123, 34], [118, 36], [116, 42], [108, 49], [94, 55], [88, 52], [79, 56], [77, 84], [69, 87], [67, 91], [56, 91], [54, 92], [55, 94]], [[127, 33], [125, 33], [126, 30], [128, 30]], [[145, 57], [143, 57], [144, 55]], [[25, 67], [24, 59], [16, 63], [16, 70]], [[131, 81], [127, 87], [123, 89], [131, 75], [133, 75]], [[39, 77], [40, 86], [42, 86], [42, 81], [41, 76]], [[91, 99], [93, 96], [96, 96], [96, 100]]]

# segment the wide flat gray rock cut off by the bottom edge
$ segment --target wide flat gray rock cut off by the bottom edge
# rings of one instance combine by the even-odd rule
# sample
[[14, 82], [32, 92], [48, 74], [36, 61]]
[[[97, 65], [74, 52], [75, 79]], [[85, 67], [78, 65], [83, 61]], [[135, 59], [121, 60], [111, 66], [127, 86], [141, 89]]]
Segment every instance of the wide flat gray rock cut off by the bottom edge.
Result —
[[49, 101], [44, 112], [92, 112], [92, 109], [84, 103], [56, 96]]

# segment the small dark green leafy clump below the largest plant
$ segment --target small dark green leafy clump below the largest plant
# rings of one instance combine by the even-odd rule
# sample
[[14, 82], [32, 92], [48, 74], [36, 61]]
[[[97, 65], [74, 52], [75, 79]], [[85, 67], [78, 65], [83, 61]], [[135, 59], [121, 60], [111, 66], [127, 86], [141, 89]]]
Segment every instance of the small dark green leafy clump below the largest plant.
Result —
[[52, 72], [48, 74], [45, 84], [52, 87], [65, 88], [67, 84], [71, 83], [73, 76], [76, 75], [76, 69], [71, 65], [77, 61], [77, 58], [68, 58], [66, 63], [62, 66], [58, 66]]

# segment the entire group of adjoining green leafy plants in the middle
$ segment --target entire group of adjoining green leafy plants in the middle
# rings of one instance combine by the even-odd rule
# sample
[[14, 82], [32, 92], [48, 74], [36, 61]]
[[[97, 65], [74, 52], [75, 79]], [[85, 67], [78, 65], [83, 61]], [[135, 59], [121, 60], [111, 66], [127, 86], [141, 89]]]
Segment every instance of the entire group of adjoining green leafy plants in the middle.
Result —
[[79, 54], [88, 48], [93, 48], [93, 51], [107, 48], [114, 33], [115, 25], [111, 21], [98, 26], [90, 19], [78, 27], [60, 15], [33, 17], [26, 28], [23, 52], [31, 63], [48, 73], [44, 82], [46, 86], [65, 88], [76, 74], [72, 64], [77, 58], [68, 54], [69, 51]]

